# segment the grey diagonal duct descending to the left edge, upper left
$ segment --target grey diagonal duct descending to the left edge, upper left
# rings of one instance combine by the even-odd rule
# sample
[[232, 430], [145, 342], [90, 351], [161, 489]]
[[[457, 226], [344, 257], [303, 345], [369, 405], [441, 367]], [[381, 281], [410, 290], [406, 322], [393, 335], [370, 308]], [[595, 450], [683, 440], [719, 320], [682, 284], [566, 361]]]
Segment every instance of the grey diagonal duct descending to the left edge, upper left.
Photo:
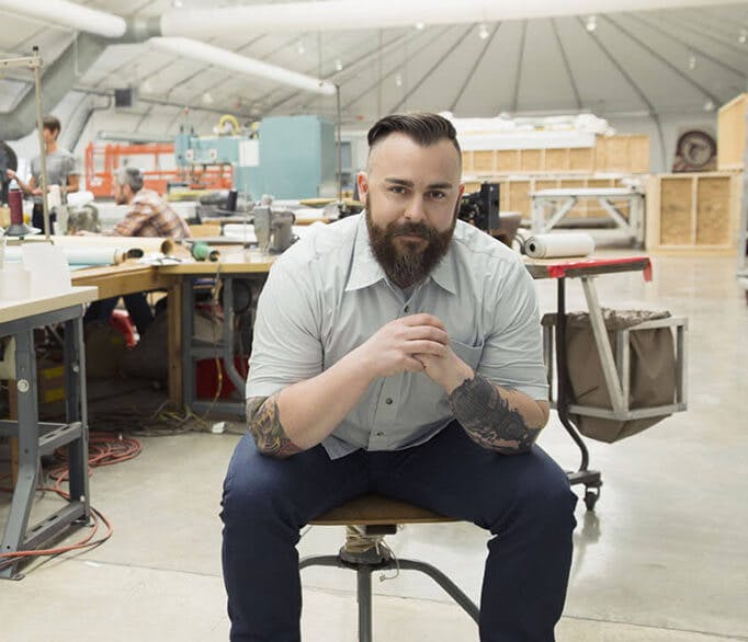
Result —
[[[78, 82], [77, 73], [84, 73], [106, 48], [106, 41], [80, 34], [54, 62], [42, 67], [42, 104], [52, 110]], [[31, 74], [29, 76], [31, 79]], [[36, 104], [33, 88], [29, 88], [19, 103], [0, 113], [0, 140], [18, 140], [36, 127]]]

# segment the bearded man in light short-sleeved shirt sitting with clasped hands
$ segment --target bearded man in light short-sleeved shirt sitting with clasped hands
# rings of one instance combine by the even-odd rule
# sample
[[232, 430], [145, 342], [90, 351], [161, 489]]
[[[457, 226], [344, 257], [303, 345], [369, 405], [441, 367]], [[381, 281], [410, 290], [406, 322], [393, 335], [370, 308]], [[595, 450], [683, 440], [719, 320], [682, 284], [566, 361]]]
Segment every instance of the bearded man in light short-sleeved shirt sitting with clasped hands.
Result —
[[224, 483], [233, 641], [299, 640], [299, 529], [378, 492], [488, 529], [484, 642], [549, 642], [576, 497], [534, 442], [548, 419], [521, 260], [457, 220], [452, 124], [369, 131], [365, 214], [303, 239], [258, 303], [248, 434]]

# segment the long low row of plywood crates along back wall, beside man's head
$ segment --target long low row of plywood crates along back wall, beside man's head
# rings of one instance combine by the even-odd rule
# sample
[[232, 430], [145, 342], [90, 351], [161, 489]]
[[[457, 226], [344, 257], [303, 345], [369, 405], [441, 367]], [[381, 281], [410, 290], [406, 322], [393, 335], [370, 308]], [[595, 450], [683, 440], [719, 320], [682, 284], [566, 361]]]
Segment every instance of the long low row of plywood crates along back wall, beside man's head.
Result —
[[649, 172], [646, 134], [598, 136], [594, 147], [481, 149], [463, 152], [463, 172], [476, 176], [509, 174], [594, 174]]

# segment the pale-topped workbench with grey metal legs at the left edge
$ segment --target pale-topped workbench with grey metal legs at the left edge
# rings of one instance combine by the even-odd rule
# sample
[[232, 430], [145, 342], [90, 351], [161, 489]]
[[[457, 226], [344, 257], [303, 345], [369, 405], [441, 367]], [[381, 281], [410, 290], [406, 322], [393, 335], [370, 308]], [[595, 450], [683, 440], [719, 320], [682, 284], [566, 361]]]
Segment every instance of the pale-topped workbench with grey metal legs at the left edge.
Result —
[[[95, 287], [73, 287], [56, 296], [0, 302], [0, 336], [15, 340], [18, 389], [18, 419], [0, 421], [0, 436], [18, 437], [19, 440], [19, 471], [2, 538], [2, 553], [42, 548], [68, 527], [88, 524], [90, 495], [82, 318], [83, 305], [97, 297]], [[65, 324], [66, 422], [61, 424], [38, 421], [34, 329], [53, 323]], [[29, 529], [39, 457], [50, 455], [61, 446], [68, 448], [70, 497], [63, 508]], [[0, 558], [0, 564], [2, 561]], [[15, 561], [0, 565], [0, 577], [20, 578], [19, 564]]]

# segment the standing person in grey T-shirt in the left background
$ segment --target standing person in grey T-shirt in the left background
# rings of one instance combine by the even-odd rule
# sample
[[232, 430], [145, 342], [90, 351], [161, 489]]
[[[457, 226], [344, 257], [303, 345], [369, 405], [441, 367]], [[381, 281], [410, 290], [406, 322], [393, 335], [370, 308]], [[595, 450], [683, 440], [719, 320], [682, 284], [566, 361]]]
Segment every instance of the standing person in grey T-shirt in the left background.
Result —
[[[67, 149], [57, 144], [61, 125], [57, 117], [45, 116], [43, 119], [44, 146], [46, 150], [47, 187], [59, 185], [64, 194], [78, 192], [80, 185], [80, 172], [77, 169], [76, 157]], [[31, 225], [35, 228], [44, 228], [44, 210], [42, 206], [42, 157], [36, 156], [31, 161], [31, 179], [24, 182], [16, 172], [8, 170], [8, 180], [19, 184], [26, 196], [34, 200], [34, 210]], [[54, 221], [54, 216], [50, 218]]]

